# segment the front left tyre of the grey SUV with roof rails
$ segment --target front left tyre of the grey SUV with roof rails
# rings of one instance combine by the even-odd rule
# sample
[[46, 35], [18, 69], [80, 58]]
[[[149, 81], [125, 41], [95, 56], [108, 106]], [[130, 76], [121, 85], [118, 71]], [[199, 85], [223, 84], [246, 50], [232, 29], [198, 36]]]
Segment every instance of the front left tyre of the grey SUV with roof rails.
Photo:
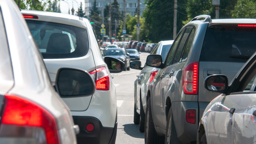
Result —
[[165, 137], [159, 136], [156, 134], [153, 118], [151, 114], [151, 102], [150, 98], [147, 102], [146, 106], [146, 114], [145, 114], [145, 144], [164, 144]]

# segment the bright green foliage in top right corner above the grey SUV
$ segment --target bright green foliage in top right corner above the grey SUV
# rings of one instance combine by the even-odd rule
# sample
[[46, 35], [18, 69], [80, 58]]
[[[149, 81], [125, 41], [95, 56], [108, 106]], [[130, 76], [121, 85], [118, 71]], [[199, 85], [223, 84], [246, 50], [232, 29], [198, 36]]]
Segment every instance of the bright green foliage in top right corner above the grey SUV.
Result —
[[233, 18], [256, 18], [255, 0], [238, 0], [231, 14]]

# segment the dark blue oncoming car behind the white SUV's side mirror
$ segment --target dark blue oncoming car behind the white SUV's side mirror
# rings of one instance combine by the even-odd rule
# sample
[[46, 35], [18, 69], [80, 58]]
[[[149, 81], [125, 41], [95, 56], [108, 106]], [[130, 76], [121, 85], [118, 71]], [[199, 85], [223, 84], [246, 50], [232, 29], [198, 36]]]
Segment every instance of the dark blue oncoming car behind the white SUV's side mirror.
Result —
[[130, 57], [125, 48], [108, 48], [106, 56], [122, 60], [125, 65], [124, 71], [130, 70]]

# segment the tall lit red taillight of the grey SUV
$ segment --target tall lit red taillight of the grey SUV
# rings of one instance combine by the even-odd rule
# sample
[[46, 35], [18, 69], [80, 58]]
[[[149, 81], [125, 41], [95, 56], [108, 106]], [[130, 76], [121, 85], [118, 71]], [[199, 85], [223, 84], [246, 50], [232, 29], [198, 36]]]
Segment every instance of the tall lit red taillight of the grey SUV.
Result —
[[187, 95], [198, 94], [198, 65], [199, 62], [193, 62], [183, 70], [183, 92]]

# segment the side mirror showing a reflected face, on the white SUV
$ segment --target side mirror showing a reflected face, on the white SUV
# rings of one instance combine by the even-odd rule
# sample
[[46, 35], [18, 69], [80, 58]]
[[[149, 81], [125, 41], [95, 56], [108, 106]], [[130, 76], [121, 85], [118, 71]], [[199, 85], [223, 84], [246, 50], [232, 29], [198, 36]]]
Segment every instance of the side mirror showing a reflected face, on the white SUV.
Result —
[[107, 64], [110, 73], [121, 73], [125, 68], [124, 63], [116, 58], [105, 57], [104, 62]]

